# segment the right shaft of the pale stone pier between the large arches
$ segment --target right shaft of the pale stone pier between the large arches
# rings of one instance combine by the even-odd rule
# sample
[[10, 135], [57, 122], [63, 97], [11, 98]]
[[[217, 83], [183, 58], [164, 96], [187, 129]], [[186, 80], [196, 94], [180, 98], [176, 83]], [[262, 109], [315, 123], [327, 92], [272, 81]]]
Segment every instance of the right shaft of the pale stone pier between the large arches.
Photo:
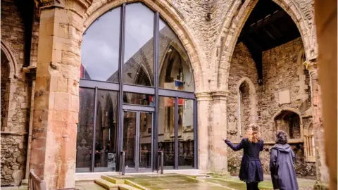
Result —
[[227, 94], [226, 91], [211, 93], [211, 126], [209, 134], [211, 172], [226, 175], [227, 145], [223, 141], [227, 137]]

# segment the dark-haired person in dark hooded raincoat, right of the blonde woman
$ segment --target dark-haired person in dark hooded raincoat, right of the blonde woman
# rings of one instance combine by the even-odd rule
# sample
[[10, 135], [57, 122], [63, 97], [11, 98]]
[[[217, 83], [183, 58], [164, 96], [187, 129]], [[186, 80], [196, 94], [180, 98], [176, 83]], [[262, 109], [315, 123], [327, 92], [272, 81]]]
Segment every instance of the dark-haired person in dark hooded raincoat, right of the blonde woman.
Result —
[[270, 172], [273, 189], [298, 190], [296, 172], [294, 172], [294, 152], [287, 144], [287, 134], [277, 131], [276, 144], [271, 148]]

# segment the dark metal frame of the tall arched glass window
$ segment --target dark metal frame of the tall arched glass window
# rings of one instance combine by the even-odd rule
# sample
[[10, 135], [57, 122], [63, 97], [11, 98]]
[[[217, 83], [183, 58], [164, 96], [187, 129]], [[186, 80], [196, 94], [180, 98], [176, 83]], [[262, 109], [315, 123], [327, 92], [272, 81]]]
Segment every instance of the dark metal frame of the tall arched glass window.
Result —
[[[94, 172], [94, 145], [96, 137], [96, 117], [97, 117], [97, 91], [99, 89], [118, 91], [118, 125], [117, 125], [117, 152], [122, 150], [123, 146], [123, 113], [124, 111], [137, 111], [137, 112], [152, 112], [153, 113], [153, 129], [152, 129], [152, 171], [157, 170], [158, 162], [158, 103], [159, 96], [166, 96], [175, 98], [175, 165], [174, 169], [178, 168], [178, 99], [192, 99], [194, 100], [194, 168], [198, 168], [198, 128], [197, 128], [197, 101], [194, 92], [190, 91], [176, 91], [173, 89], [162, 89], [158, 87], [159, 82], [159, 22], [161, 15], [158, 11], [154, 12], [154, 87], [139, 86], [134, 84], [124, 84], [123, 82], [123, 65], [125, 55], [125, 13], [127, 4], [122, 4], [120, 7], [120, 42], [119, 42], [119, 58], [118, 58], [118, 74], [119, 82], [104, 82], [97, 80], [80, 79], [80, 88], [94, 89], [95, 93], [95, 108], [94, 108], [94, 133], [93, 133], [93, 148], [92, 148], [92, 167], [91, 172]], [[167, 24], [168, 25], [168, 24]], [[124, 92], [149, 94], [154, 95], [153, 106], [131, 105], [123, 103]], [[120, 161], [120, 154], [116, 155], [116, 163]], [[116, 171], [120, 171], [119, 165], [116, 165]]]

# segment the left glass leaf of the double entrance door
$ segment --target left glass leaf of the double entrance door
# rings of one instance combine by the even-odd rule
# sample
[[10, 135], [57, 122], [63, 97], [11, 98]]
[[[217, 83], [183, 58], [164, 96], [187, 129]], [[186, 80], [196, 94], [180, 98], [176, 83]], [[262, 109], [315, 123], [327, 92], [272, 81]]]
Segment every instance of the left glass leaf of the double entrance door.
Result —
[[135, 168], [136, 112], [123, 113], [123, 151], [125, 168]]

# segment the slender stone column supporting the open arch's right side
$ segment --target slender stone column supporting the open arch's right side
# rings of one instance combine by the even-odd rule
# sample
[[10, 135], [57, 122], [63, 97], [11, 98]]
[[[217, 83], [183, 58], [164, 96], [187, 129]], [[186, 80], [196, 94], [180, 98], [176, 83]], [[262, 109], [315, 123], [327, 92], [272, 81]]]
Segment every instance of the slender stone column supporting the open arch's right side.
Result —
[[315, 163], [318, 182], [328, 182], [328, 169], [325, 164], [325, 145], [323, 110], [320, 84], [318, 83], [317, 59], [306, 61], [306, 69], [310, 75], [311, 100], [313, 107], [313, 130], [315, 134]]

